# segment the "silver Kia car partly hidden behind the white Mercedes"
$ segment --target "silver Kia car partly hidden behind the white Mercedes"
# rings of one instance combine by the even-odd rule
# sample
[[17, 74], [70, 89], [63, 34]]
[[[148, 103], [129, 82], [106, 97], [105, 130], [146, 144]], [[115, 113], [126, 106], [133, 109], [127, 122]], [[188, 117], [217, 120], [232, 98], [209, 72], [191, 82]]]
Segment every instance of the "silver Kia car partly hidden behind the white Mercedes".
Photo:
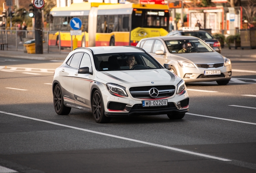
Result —
[[231, 79], [231, 61], [194, 36], [159, 36], [138, 42], [158, 62], [169, 64], [171, 71], [185, 82], [216, 81], [220, 85]]

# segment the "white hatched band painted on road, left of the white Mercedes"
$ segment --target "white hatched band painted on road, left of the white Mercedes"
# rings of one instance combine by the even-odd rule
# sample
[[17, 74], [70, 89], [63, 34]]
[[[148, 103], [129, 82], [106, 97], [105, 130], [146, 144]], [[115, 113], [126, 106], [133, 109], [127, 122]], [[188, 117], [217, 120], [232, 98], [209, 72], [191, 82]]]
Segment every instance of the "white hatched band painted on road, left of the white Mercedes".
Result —
[[54, 73], [55, 69], [51, 69], [51, 68], [27, 68], [27, 67], [0, 66], [0, 70]]

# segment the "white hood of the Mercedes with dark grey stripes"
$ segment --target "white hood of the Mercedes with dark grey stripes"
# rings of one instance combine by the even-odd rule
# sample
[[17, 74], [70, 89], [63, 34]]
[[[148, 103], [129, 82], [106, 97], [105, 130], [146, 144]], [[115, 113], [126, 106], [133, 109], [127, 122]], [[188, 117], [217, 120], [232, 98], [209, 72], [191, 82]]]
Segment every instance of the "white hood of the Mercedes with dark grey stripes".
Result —
[[[101, 71], [97, 78], [116, 84], [133, 82], [174, 81], [177, 76], [166, 69]], [[180, 79], [181, 80], [181, 79]]]

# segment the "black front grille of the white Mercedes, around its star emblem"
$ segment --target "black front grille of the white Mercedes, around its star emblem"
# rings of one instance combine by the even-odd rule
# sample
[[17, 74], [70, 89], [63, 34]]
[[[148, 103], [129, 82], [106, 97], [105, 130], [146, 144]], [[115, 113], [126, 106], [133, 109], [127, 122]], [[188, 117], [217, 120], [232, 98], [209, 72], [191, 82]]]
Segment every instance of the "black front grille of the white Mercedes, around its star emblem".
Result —
[[[153, 98], [149, 95], [149, 91], [152, 88], [156, 88], [159, 91], [157, 97]], [[132, 97], [137, 99], [161, 99], [165, 97], [171, 97], [175, 92], [175, 86], [163, 85], [163, 86], [145, 86], [145, 87], [132, 87], [130, 93]]]

